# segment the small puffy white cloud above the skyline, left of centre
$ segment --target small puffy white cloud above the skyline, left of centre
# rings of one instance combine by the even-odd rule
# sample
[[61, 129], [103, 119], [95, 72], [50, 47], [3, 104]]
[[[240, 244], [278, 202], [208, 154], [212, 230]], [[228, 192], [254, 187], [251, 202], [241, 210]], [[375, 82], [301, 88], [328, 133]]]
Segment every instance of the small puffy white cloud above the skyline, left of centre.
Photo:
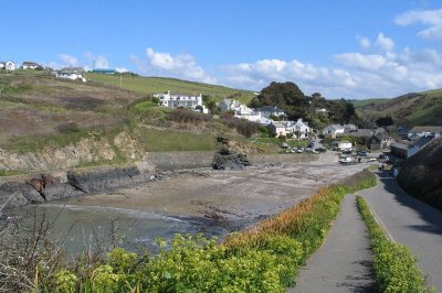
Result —
[[182, 78], [201, 83], [215, 83], [215, 78], [207, 74], [190, 54], [176, 56], [169, 53], [155, 52], [154, 48], [146, 48], [146, 57], [131, 56], [131, 62], [146, 75], [158, 75]]

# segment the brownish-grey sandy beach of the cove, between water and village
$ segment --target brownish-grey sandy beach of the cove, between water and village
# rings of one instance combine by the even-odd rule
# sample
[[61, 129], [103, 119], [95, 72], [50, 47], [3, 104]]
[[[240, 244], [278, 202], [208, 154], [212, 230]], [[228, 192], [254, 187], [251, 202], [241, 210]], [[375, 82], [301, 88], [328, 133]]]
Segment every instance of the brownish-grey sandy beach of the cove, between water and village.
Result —
[[[296, 154], [294, 154], [296, 155]], [[324, 185], [367, 167], [340, 165], [333, 152], [303, 163], [264, 164], [244, 171], [209, 169], [166, 174], [107, 194], [71, 198], [66, 204], [154, 211], [172, 217], [201, 218], [244, 228], [312, 196]]]

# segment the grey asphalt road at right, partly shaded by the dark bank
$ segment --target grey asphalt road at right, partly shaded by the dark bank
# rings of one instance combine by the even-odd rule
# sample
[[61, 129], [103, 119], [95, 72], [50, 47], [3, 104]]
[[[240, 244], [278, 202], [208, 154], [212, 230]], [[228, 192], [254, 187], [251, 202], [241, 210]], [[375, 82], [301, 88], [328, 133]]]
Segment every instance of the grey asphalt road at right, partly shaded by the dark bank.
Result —
[[442, 211], [406, 194], [396, 178], [380, 174], [378, 185], [360, 192], [392, 238], [408, 246], [442, 292]]

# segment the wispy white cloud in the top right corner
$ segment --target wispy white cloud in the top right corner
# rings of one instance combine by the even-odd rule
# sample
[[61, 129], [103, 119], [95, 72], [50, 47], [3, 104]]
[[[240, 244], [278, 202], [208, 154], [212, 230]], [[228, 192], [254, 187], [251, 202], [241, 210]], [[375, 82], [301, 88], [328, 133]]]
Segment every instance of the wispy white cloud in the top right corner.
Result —
[[429, 28], [420, 31], [418, 35], [423, 39], [434, 39], [442, 41], [442, 9], [408, 11], [398, 15], [394, 22], [402, 26], [414, 23], [429, 25]]

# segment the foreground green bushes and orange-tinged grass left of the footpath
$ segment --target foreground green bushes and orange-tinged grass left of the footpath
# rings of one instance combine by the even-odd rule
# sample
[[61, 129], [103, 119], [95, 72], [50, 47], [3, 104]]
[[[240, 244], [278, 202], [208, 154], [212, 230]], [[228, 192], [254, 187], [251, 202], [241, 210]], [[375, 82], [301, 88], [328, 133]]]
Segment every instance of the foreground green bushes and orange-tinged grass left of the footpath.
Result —
[[324, 241], [344, 196], [375, 183], [373, 174], [364, 171], [221, 245], [177, 235], [169, 242], [158, 239], [156, 254], [114, 248], [106, 256], [87, 252], [66, 262], [60, 247], [41, 234], [48, 226], [36, 224], [39, 230], [23, 241], [11, 224], [13, 230], [0, 229], [0, 261], [15, 273], [0, 285], [42, 292], [284, 292]]

